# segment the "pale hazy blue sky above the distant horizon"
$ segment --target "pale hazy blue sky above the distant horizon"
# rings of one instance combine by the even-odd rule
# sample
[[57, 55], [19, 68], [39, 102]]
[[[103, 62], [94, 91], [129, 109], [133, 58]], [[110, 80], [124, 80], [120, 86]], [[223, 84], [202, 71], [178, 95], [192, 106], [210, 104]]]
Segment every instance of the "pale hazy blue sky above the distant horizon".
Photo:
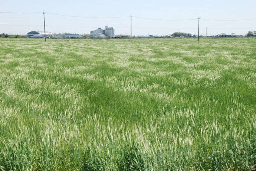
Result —
[[[97, 28], [114, 27], [115, 34], [130, 34], [130, 15], [132, 35], [168, 35], [174, 32], [197, 34], [198, 16], [200, 34], [208, 35], [246, 34], [256, 30], [256, 0], [3, 0], [0, 12], [43, 12], [45, 11], [46, 31], [53, 33], [89, 34]], [[78, 18], [56, 16], [49, 13], [85, 17], [123, 17], [125, 18]], [[155, 19], [195, 19], [183, 21], [147, 20]], [[29, 31], [43, 31], [43, 14], [4, 14], [0, 13], [0, 32], [26, 34]]]

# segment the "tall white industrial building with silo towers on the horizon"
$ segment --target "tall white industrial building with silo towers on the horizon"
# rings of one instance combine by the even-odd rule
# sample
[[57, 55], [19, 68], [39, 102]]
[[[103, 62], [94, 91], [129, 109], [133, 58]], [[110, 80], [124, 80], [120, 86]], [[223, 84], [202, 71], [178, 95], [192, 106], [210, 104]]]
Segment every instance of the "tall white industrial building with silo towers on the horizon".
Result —
[[91, 31], [91, 38], [106, 38], [106, 37], [114, 37], [115, 36], [115, 30], [113, 27], [108, 27], [106, 25], [105, 30], [102, 28], [98, 28], [96, 30]]

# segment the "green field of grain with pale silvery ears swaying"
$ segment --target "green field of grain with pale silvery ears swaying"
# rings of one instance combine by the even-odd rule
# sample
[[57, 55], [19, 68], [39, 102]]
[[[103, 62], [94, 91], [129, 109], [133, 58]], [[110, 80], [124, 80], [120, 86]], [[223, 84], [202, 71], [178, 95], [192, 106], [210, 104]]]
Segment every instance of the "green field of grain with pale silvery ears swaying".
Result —
[[255, 164], [255, 38], [0, 38], [0, 171]]

